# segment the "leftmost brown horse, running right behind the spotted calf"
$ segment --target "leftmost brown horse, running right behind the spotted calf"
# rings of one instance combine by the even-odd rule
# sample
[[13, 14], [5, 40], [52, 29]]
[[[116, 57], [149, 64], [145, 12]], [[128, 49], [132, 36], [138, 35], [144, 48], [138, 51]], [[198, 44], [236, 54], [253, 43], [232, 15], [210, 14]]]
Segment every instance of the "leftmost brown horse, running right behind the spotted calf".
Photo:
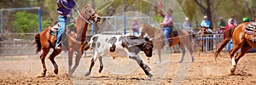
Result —
[[[94, 22], [98, 22], [99, 21], [99, 15], [96, 14], [95, 10], [90, 8], [89, 5], [84, 5], [84, 8], [82, 8], [82, 10], [79, 12], [81, 13], [78, 17], [78, 19], [76, 20], [75, 23], [75, 28], [77, 31], [77, 34], [75, 34], [74, 32], [72, 32], [70, 35], [68, 35], [68, 74], [71, 76], [73, 74], [73, 71], [75, 71], [75, 69], [77, 68], [77, 66], [79, 65], [79, 59], [81, 59], [81, 56], [83, 54], [83, 52], [80, 51], [80, 46], [81, 43], [77, 43], [77, 42], [73, 42], [72, 38], [75, 39], [79, 39], [79, 41], [84, 42], [86, 39], [86, 31], [88, 28], [88, 25], [91, 23], [90, 21], [94, 21]], [[41, 33], [38, 33], [35, 36], [35, 42], [37, 43], [37, 51], [36, 53], [38, 54], [38, 52], [41, 51], [41, 49], [43, 49], [43, 53], [40, 55], [40, 59], [43, 65], [43, 72], [40, 76], [38, 77], [45, 77], [46, 74], [46, 66], [44, 63], [44, 59], [46, 57], [46, 55], [49, 53], [49, 49], [53, 48], [53, 53], [49, 55], [49, 59], [52, 62], [52, 64], [55, 67], [55, 74], [58, 74], [58, 65], [55, 63], [55, 56], [61, 53], [61, 50], [57, 50], [55, 49], [55, 39], [56, 36], [53, 36], [49, 33], [51, 27], [46, 28], [44, 31], [42, 31]], [[63, 33], [64, 35], [65, 33]], [[76, 36], [78, 35], [78, 36]], [[72, 38], [71, 38], [72, 37]], [[64, 40], [62, 40], [64, 41]], [[63, 43], [63, 42], [62, 42]], [[86, 43], [86, 42], [84, 42]], [[76, 62], [75, 65], [72, 68], [73, 65], [73, 52], [74, 51], [78, 51], [78, 54], [76, 55]]]

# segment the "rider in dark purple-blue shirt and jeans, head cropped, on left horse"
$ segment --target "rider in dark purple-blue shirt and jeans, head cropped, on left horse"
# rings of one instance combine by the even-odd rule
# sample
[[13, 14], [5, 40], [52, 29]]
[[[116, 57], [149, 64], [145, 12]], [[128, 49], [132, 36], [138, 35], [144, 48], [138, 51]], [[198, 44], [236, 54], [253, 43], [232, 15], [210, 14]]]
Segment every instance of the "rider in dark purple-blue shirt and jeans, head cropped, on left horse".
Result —
[[[65, 30], [66, 26], [66, 20], [67, 20], [67, 14], [72, 10], [72, 8], [76, 5], [74, 0], [58, 0], [57, 1], [58, 5], [58, 13], [60, 14], [58, 17], [59, 20], [59, 30], [58, 30], [58, 35], [56, 38], [55, 42], [55, 48], [56, 49], [61, 49], [61, 35], [63, 30]], [[74, 8], [77, 10], [77, 8]]]

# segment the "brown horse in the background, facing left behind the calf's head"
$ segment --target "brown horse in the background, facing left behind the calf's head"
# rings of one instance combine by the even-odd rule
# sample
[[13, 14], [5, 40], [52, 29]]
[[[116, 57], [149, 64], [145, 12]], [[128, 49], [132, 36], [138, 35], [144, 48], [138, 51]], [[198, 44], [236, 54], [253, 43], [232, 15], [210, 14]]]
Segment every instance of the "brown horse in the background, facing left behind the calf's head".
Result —
[[[156, 48], [158, 55], [159, 55], [159, 63], [161, 62], [161, 58], [160, 58], [160, 50], [162, 48], [164, 48], [165, 46], [165, 37], [163, 35], [163, 31], [161, 30], [157, 30], [152, 26], [149, 26], [147, 24], [143, 24], [143, 29], [141, 31], [140, 37], [143, 37], [145, 34], [148, 34], [149, 37], [154, 38], [154, 48]], [[193, 56], [193, 50], [192, 47], [190, 46], [190, 42], [192, 42], [192, 35], [190, 35], [189, 33], [189, 29], [188, 30], [178, 30], [177, 31], [179, 37], [171, 37], [169, 39], [170, 44], [169, 46], [175, 46], [178, 45], [179, 48], [181, 48], [182, 51], [182, 56], [181, 59], [179, 60], [179, 62], [183, 62], [183, 58], [184, 55], [186, 53], [185, 48], [189, 49], [189, 53], [191, 54], [191, 59], [192, 62], [194, 62], [194, 56]], [[190, 42], [187, 42], [187, 41]]]

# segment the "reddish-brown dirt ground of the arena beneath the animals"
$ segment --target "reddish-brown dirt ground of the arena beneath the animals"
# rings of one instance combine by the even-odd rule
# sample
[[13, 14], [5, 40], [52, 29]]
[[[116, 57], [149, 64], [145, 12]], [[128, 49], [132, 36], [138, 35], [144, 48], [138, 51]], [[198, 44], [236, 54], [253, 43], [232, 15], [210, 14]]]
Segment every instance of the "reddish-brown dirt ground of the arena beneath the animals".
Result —
[[0, 58], [0, 84], [256, 84], [255, 54], [246, 54], [230, 76], [231, 61], [228, 54], [221, 54], [217, 62], [213, 54], [195, 54], [191, 63], [186, 55], [183, 63], [177, 63], [180, 54], [163, 54], [163, 61], [154, 64], [142, 55], [143, 61], [154, 77], [147, 77], [137, 62], [127, 58], [103, 57], [103, 71], [98, 73], [98, 61], [89, 77], [84, 77], [90, 66], [90, 58], [82, 58], [73, 77], [67, 77], [67, 54], [56, 57], [59, 74], [53, 72], [53, 65], [46, 58], [47, 76], [36, 78], [42, 71], [38, 56], [15, 56]]

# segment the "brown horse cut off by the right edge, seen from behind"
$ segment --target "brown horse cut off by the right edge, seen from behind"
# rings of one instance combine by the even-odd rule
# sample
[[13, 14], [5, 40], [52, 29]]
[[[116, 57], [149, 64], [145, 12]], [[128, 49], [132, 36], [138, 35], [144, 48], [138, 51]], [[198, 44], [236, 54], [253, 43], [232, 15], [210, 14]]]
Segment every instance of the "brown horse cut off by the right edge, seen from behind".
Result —
[[[256, 22], [254, 22], [254, 24], [255, 23]], [[240, 24], [239, 26], [236, 26], [236, 28], [233, 27], [228, 29], [227, 31], [224, 31], [224, 41], [219, 44], [220, 47], [214, 54], [215, 59], [217, 59], [218, 54], [221, 52], [224, 46], [228, 42], [230, 42], [230, 39], [233, 39], [234, 48], [232, 48], [229, 53], [232, 62], [232, 66], [230, 69], [231, 74], [234, 74], [234, 72], [236, 71], [236, 65], [238, 63], [238, 60], [241, 59], [241, 57], [246, 54], [250, 48], [256, 48], [255, 41], [253, 42], [254, 39], [252, 39], [253, 35], [245, 33], [245, 29], [248, 24], [248, 22], [245, 22]], [[241, 50], [238, 54], [236, 54], [236, 51], [239, 48], [241, 48]], [[236, 56], [234, 56], [235, 54]]]

